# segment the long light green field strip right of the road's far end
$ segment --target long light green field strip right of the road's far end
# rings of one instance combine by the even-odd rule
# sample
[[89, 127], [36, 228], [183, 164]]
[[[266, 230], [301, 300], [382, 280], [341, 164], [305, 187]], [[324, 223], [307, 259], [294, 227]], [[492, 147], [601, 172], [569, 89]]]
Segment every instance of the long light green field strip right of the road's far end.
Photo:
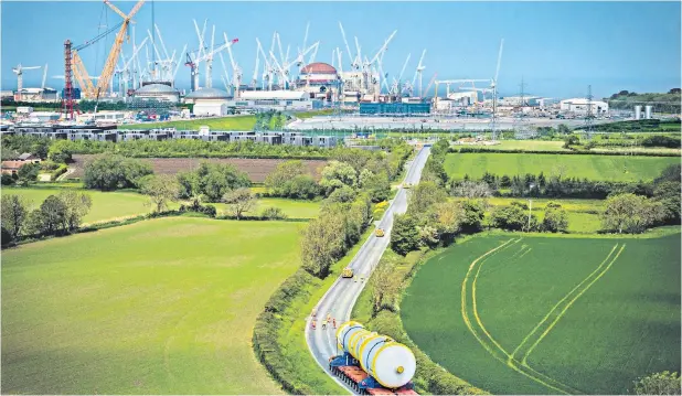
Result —
[[480, 179], [483, 173], [497, 175], [563, 174], [564, 178], [587, 178], [605, 181], [652, 180], [671, 164], [680, 163], [676, 157], [578, 156], [578, 154], [522, 154], [522, 153], [449, 153], [445, 170], [450, 178], [463, 179], [468, 174]]

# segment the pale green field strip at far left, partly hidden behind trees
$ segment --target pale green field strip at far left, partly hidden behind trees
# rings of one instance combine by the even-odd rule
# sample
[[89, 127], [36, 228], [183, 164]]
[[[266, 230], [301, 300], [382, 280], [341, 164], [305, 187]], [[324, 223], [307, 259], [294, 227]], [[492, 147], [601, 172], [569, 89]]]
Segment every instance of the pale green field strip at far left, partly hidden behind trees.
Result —
[[[31, 188], [2, 188], [2, 194], [17, 194], [32, 202], [33, 207], [40, 206], [52, 194], [58, 194], [65, 189], [31, 189]], [[89, 213], [83, 218], [85, 224], [136, 216], [151, 211], [147, 206], [149, 197], [134, 192], [102, 192], [94, 190], [78, 190], [93, 199]]]

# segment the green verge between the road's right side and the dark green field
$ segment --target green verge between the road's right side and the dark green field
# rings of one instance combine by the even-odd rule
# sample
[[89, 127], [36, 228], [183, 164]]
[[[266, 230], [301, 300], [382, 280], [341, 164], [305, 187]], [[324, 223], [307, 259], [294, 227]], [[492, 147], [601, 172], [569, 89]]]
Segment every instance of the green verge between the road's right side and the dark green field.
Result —
[[[463, 237], [459, 240], [465, 240]], [[397, 342], [401, 342], [412, 350], [417, 361], [417, 371], [413, 378], [415, 389], [419, 394], [431, 395], [487, 395], [488, 393], [479, 389], [466, 381], [449, 373], [440, 365], [436, 364], [430, 357], [424, 353], [419, 347], [409, 339], [405, 329], [403, 328], [403, 321], [399, 315], [399, 302], [404, 296], [405, 290], [412, 282], [414, 275], [418, 267], [424, 264], [428, 258], [437, 255], [440, 250], [418, 250], [407, 254], [403, 257], [394, 253], [391, 249], [384, 251], [380, 266], [392, 266], [394, 269], [393, 275], [402, 280], [402, 285], [398, 295], [395, 296], [395, 312], [388, 309], [383, 309], [372, 318], [372, 295], [373, 295], [373, 281], [374, 275], [370, 277], [367, 285], [362, 290], [362, 293], [358, 298], [355, 307], [351, 317], [353, 320], [365, 324], [370, 330], [376, 331], [380, 334], [386, 334]]]

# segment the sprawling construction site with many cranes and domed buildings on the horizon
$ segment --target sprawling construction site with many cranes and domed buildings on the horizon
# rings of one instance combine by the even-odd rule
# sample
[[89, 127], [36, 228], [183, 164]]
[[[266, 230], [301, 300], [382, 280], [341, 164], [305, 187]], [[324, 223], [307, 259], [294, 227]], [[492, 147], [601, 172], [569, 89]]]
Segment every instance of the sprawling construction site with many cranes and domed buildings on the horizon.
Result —
[[[289, 127], [295, 130], [426, 127], [494, 132], [529, 125], [582, 122], [586, 117], [597, 122], [642, 117], [641, 111], [611, 114], [607, 103], [593, 100], [589, 93], [584, 98], [558, 100], [524, 94], [522, 87], [519, 96], [500, 97], [498, 76], [503, 39], [497, 64], [490, 65], [490, 76], [438, 79], [436, 71], [427, 72], [427, 49], [414, 49], [417, 55], [414, 57], [412, 52], [406, 53], [401, 65], [384, 64], [384, 55], [398, 36], [397, 30], [386, 35], [379, 49], [369, 51], [356, 35], [347, 35], [342, 22], [338, 22], [338, 38], [333, 40], [338, 45], [331, 57], [324, 60], [318, 51], [320, 41], [309, 38], [310, 23], [301, 31], [299, 43], [285, 45], [278, 32], [268, 38], [269, 42], [262, 42], [259, 38], [228, 36], [207, 20], [192, 20], [194, 40], [181, 49], [171, 49], [164, 43], [161, 26], [153, 22], [153, 12], [151, 28], [143, 32], [138, 28], [136, 32], [134, 18], [145, 0], [135, 3], [128, 12], [109, 0], [104, 0], [104, 4], [117, 18], [116, 24], [87, 40], [64, 38], [60, 42], [64, 63], [52, 67], [63, 67], [63, 75], [52, 77], [60, 79], [60, 88], [46, 86], [47, 64], [19, 63], [12, 69], [17, 75], [17, 90], [2, 93], [3, 100], [15, 103], [58, 103], [58, 111], [34, 113], [24, 107], [23, 111], [6, 115], [3, 122], [131, 124], [266, 110], [328, 109], [327, 117], [295, 120]], [[81, 54], [106, 42], [105, 39], [113, 40], [113, 45], [104, 67], [94, 71]], [[246, 45], [256, 46], [253, 69], [239, 64], [239, 47]], [[28, 71], [40, 68], [42, 85], [24, 87], [23, 74], [38, 73]], [[385, 73], [388, 68], [399, 72], [391, 75]], [[189, 87], [177, 83], [180, 73], [189, 74]], [[102, 104], [116, 104], [121, 114], [113, 119], [82, 117], [86, 113], [79, 108], [83, 100], [95, 103], [94, 110], [87, 113], [97, 114]], [[642, 118], [651, 117], [650, 109]]]

